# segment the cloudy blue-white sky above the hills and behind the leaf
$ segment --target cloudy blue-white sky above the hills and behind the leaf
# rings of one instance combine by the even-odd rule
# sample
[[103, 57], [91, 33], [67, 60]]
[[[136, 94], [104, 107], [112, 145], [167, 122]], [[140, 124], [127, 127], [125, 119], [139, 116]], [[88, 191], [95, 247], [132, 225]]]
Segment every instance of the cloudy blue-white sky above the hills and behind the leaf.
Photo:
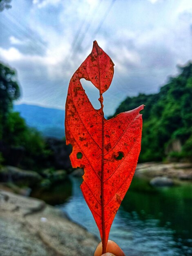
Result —
[[[65, 108], [69, 80], [97, 40], [115, 64], [104, 96], [150, 94], [192, 59], [192, 0], [12, 0], [0, 12], [0, 61], [18, 72], [18, 103]], [[98, 90], [82, 81], [95, 108]], [[144, 103], [145, 104], [145, 103]]]

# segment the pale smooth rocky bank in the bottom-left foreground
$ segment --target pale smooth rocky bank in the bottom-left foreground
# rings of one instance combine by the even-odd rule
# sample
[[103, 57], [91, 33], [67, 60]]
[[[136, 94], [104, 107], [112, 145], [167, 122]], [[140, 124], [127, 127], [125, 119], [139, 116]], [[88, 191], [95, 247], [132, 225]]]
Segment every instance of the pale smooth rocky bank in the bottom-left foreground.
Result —
[[94, 255], [98, 242], [45, 202], [0, 190], [0, 255]]

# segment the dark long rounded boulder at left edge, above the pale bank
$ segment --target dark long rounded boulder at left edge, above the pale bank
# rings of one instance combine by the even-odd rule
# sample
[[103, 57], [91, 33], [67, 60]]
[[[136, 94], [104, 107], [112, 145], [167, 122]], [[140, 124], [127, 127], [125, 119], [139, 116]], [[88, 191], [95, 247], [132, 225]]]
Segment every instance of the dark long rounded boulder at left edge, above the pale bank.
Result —
[[25, 171], [13, 166], [5, 166], [0, 170], [1, 182], [13, 182], [32, 187], [37, 185], [42, 177], [34, 171]]

